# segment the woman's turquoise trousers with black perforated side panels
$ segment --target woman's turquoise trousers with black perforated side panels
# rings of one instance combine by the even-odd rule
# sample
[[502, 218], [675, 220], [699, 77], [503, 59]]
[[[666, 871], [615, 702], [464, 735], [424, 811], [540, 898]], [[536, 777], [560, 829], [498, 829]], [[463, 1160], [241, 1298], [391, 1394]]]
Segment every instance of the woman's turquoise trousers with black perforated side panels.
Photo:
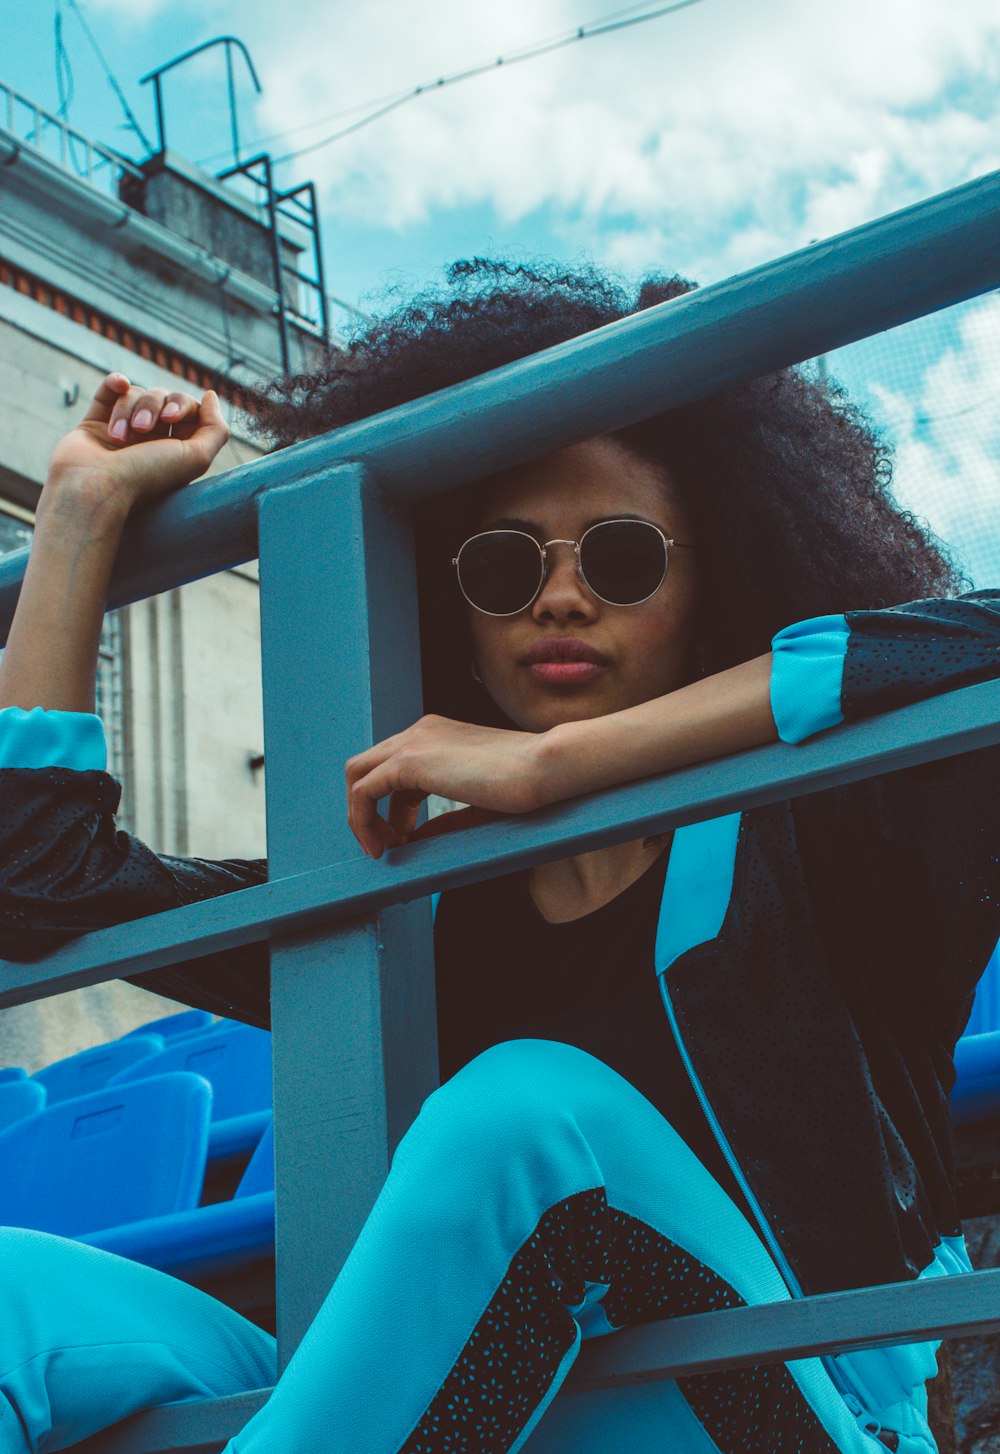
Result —
[[[148, 1268], [7, 1229], [0, 1274], [0, 1454], [273, 1383], [266, 1333]], [[644, 1096], [580, 1050], [512, 1041], [427, 1099], [228, 1454], [879, 1454], [818, 1359], [552, 1402], [583, 1338], [785, 1297]], [[904, 1405], [898, 1448], [933, 1454], [922, 1387]]]

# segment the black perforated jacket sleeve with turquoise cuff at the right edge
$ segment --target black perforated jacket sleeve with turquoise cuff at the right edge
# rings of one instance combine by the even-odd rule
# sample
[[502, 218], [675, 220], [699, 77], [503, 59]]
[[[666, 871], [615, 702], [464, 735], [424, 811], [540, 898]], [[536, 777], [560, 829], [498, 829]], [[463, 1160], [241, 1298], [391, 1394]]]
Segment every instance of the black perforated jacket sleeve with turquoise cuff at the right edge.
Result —
[[[1000, 676], [1000, 590], [804, 621], [772, 650], [779, 736], [802, 742]], [[900, 989], [919, 986], [958, 1034], [1000, 936], [1000, 747], [834, 792], [844, 849], [836, 872], [856, 888], [844, 917], [856, 915], [866, 935], [876, 925]]]

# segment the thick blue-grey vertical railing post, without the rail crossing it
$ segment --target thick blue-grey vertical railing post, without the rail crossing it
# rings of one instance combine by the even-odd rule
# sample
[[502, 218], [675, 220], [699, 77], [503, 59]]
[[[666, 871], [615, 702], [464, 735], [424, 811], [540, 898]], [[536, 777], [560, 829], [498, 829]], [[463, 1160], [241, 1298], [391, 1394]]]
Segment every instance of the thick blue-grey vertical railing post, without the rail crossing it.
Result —
[[[267, 855], [281, 877], [360, 853], [343, 763], [420, 715], [420, 650], [410, 522], [360, 468], [269, 491], [259, 519]], [[283, 1364], [436, 1085], [427, 901], [273, 941], [270, 1002]]]

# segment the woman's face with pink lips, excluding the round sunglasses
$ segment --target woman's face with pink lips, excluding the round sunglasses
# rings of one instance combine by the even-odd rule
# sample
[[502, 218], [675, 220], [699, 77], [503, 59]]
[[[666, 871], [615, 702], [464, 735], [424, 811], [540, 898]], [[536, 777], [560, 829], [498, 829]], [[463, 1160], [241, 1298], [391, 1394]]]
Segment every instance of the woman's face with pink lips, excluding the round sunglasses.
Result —
[[[586, 439], [494, 475], [478, 529], [520, 529], [578, 541], [597, 521], [638, 516], [667, 539], [695, 545], [666, 474], [609, 436]], [[494, 702], [519, 727], [602, 717], [683, 686], [696, 676], [696, 553], [670, 550], [660, 589], [637, 606], [606, 605], [581, 579], [571, 545], [548, 548], [547, 576], [513, 616], [468, 608], [475, 666]], [[580, 664], [587, 648], [592, 660]], [[577, 659], [576, 667], [565, 662]], [[562, 669], [554, 663], [562, 662]]]

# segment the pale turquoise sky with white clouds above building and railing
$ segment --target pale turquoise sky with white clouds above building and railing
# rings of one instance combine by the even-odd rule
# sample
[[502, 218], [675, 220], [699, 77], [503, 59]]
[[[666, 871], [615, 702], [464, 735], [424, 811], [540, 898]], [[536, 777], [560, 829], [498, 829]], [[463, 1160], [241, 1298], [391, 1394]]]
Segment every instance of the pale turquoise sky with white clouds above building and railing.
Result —
[[[256, 96], [237, 68], [241, 137], [281, 157], [506, 57], [282, 163], [283, 180], [317, 182], [328, 288], [362, 308], [387, 284], [500, 250], [711, 282], [1000, 166], [996, 0], [696, 0], [512, 64], [580, 26], [657, 9], [610, 6], [0, 0], [0, 79], [52, 109], [68, 99], [80, 129], [140, 157], [80, 15], [148, 135], [138, 79], [237, 35], [263, 86]], [[231, 161], [221, 52], [173, 73], [164, 93], [170, 145], [215, 169]], [[978, 583], [1000, 582], [997, 301], [831, 359], [891, 430], [898, 493]]]

